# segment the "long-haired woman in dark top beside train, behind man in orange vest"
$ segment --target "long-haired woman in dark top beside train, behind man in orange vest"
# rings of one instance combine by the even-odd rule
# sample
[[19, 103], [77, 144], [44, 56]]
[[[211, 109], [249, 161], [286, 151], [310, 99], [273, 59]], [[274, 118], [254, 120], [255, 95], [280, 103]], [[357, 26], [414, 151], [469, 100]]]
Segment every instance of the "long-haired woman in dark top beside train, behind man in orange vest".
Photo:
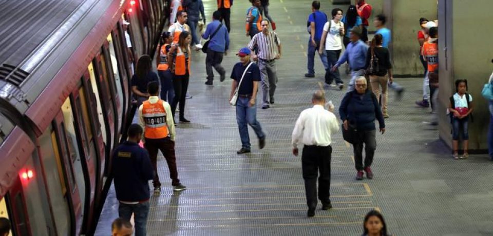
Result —
[[[137, 100], [137, 107], [149, 98], [147, 93], [147, 84], [152, 81], [158, 81], [158, 75], [153, 71], [153, 60], [149, 55], [142, 55], [137, 61], [135, 74], [131, 78], [131, 89]], [[134, 116], [134, 122], [138, 122], [138, 112]]]

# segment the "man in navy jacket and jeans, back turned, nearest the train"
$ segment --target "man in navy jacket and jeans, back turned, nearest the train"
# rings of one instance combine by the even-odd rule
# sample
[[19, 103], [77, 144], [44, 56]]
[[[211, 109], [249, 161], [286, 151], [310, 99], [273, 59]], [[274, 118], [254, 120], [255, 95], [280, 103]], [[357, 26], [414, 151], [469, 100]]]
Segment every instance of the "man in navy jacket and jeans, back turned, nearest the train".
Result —
[[129, 221], [134, 213], [136, 236], [146, 235], [150, 198], [148, 181], [154, 177], [149, 154], [139, 146], [142, 133], [140, 125], [130, 125], [128, 140], [115, 149], [111, 159], [111, 172], [120, 202], [118, 214]]

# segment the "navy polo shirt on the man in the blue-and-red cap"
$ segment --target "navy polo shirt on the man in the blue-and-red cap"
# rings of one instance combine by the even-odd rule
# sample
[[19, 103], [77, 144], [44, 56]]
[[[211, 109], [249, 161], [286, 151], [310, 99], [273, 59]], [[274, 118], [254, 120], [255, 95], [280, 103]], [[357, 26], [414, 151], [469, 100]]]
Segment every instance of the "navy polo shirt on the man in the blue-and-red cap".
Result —
[[[240, 83], [241, 75], [243, 75], [243, 71], [247, 69], [247, 66], [248, 64], [246, 66], [243, 66], [241, 62], [236, 63], [236, 65], [233, 67], [233, 71], [231, 71], [231, 78]], [[258, 69], [257, 64], [252, 63], [250, 68], [248, 68], [247, 73], [245, 73], [245, 77], [243, 77], [243, 81], [241, 82], [240, 88], [238, 89], [238, 94], [252, 94], [254, 81], [260, 81], [260, 69]]]

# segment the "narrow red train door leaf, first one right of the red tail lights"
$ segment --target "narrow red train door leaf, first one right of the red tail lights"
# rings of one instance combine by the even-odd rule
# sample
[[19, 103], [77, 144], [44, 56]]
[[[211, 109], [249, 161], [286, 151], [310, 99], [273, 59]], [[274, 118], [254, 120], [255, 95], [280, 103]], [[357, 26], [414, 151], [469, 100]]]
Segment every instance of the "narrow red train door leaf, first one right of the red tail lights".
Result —
[[56, 143], [53, 142], [53, 144], [56, 144], [59, 149], [59, 158], [56, 164], [59, 168], [61, 179], [60, 184], [63, 186], [65, 197], [68, 199], [69, 202], [70, 215], [72, 216], [70, 219], [70, 224], [72, 228], [71, 234], [74, 235], [80, 231], [83, 214], [81, 208], [81, 198], [79, 195], [79, 186], [77, 185], [77, 181], [75, 181], [74, 167], [73, 163], [71, 162], [70, 150], [67, 143], [67, 136], [63, 123], [62, 112], [60, 112], [56, 116], [53, 127], [56, 134]]

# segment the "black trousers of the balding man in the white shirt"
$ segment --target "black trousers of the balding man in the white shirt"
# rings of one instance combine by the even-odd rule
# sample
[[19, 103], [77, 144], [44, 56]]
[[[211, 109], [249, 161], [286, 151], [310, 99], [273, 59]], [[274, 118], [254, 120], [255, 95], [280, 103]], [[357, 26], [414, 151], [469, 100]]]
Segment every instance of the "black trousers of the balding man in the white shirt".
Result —
[[330, 161], [332, 147], [305, 146], [301, 154], [301, 165], [303, 179], [305, 180], [305, 191], [307, 194], [307, 205], [309, 209], [317, 207], [317, 176], [318, 176], [318, 199], [322, 204], [330, 203]]

